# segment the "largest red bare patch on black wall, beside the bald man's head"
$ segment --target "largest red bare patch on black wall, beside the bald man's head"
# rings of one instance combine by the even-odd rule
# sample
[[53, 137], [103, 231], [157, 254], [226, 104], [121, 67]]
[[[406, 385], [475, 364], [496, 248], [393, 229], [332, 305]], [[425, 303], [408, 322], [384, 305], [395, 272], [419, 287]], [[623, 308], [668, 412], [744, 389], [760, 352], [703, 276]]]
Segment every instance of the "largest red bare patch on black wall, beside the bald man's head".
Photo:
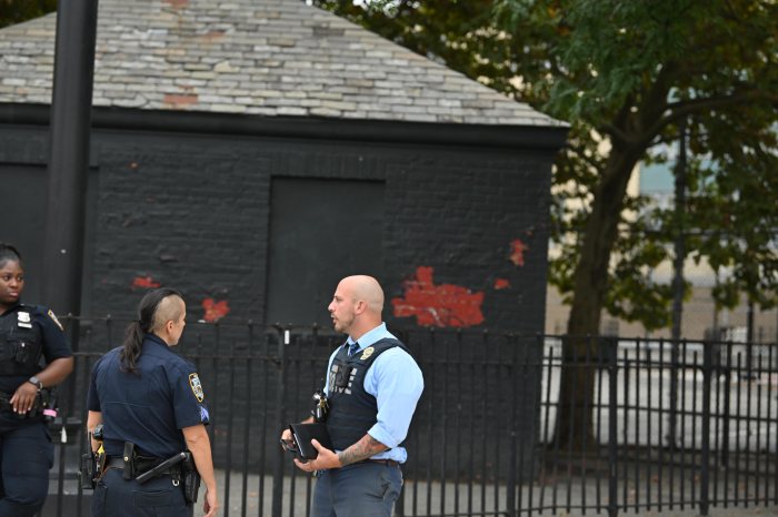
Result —
[[421, 326], [466, 327], [483, 323], [483, 293], [452, 284], [435, 285], [432, 267], [416, 268], [416, 278], [405, 282], [405, 298], [391, 301], [395, 316], [416, 316]]

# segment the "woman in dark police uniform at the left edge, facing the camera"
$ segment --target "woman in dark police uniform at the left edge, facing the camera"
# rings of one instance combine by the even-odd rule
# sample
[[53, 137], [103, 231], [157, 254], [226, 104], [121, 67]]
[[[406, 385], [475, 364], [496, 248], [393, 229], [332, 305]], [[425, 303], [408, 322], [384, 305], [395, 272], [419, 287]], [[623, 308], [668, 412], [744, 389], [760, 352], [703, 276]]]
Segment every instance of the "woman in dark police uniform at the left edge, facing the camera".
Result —
[[57, 317], [21, 304], [23, 290], [21, 256], [0, 243], [0, 517], [31, 516], [43, 506], [54, 448], [41, 397], [73, 369]]

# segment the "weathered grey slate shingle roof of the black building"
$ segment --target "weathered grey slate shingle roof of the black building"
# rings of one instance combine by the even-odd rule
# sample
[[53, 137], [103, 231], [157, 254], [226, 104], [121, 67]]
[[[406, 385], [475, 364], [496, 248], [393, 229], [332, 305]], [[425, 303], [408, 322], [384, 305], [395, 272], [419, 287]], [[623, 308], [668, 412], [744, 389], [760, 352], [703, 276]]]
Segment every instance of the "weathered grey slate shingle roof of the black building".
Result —
[[[0, 30], [0, 102], [51, 101], [56, 14]], [[300, 0], [100, 0], [96, 107], [562, 125]]]

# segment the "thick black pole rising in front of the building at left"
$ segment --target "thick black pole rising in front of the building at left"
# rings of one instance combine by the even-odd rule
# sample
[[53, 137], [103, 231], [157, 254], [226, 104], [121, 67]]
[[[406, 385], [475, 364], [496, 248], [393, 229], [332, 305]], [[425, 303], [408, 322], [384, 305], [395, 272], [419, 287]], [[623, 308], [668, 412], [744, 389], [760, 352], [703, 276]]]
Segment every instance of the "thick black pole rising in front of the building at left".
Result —
[[60, 0], [57, 9], [43, 302], [63, 315], [81, 308], [97, 7], [98, 0]]

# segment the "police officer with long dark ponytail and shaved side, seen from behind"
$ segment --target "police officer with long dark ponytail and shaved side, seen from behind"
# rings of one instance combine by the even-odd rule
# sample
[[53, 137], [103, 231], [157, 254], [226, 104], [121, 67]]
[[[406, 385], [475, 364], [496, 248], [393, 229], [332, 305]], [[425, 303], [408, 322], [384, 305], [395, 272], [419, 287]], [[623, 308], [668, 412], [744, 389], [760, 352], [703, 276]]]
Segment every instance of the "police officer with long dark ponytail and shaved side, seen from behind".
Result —
[[206, 516], [216, 515], [202, 386], [192, 364], [169, 348], [178, 344], [186, 316], [179, 292], [150, 291], [140, 301], [138, 320], [128, 327], [123, 346], [94, 364], [87, 427], [93, 432], [103, 424], [107, 455], [92, 498], [96, 517], [191, 516], [192, 505], [179, 486], [180, 470], [166, 469], [142, 484], [137, 480], [138, 475], [187, 448], [206, 485]]

